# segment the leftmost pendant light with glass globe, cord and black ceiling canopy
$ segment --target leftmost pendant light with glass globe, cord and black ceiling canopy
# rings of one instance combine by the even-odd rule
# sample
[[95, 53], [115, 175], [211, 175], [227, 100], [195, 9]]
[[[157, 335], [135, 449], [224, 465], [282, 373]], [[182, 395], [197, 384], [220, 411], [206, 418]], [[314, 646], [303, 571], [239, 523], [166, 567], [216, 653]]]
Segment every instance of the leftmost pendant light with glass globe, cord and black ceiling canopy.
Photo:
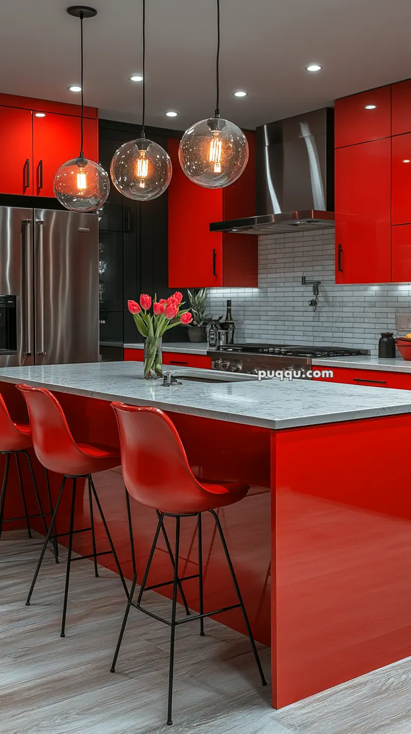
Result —
[[79, 158], [66, 161], [54, 176], [54, 194], [59, 202], [70, 211], [96, 211], [106, 201], [110, 192], [110, 179], [106, 171], [95, 161], [84, 158], [83, 153], [83, 20], [94, 18], [97, 10], [92, 7], [73, 5], [67, 12], [81, 23], [81, 145]]

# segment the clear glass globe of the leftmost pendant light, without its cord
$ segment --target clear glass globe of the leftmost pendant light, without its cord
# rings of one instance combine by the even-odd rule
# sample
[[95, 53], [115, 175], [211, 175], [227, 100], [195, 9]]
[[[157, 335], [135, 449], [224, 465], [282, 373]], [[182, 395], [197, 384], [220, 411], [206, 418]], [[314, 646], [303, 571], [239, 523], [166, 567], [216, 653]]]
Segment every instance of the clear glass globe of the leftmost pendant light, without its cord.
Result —
[[97, 211], [110, 192], [106, 171], [87, 158], [74, 158], [59, 167], [54, 176], [54, 194], [70, 211]]

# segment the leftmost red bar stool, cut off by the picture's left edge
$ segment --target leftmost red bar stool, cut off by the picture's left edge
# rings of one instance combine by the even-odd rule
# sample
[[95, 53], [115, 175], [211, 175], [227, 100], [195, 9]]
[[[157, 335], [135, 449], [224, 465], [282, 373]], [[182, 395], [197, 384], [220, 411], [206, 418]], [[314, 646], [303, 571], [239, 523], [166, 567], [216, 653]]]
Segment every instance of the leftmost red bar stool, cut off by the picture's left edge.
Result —
[[[48, 486], [48, 476], [46, 476], [46, 479], [47, 479], [48, 502], [50, 506], [50, 512], [46, 513], [43, 511], [43, 506], [41, 504], [40, 495], [37, 490], [36, 480], [34, 479], [32, 462], [30, 461], [29, 454], [27, 453], [27, 449], [32, 448], [32, 445], [33, 445], [32, 444], [32, 432], [31, 432], [29, 424], [14, 423], [12, 419], [10, 418], [10, 413], [7, 410], [7, 405], [5, 404], [3, 397], [0, 395], [0, 454], [6, 455], [6, 466], [4, 468], [3, 484], [1, 487], [1, 495], [0, 495], [0, 538], [1, 538], [1, 532], [3, 530], [3, 523], [10, 523], [12, 522], [12, 520], [26, 520], [27, 532], [29, 534], [29, 538], [31, 538], [32, 531], [30, 529], [29, 520], [32, 517], [41, 517], [46, 533], [48, 531], [45, 517], [46, 515], [53, 514], [50, 487]], [[21, 515], [20, 517], [8, 517], [7, 520], [4, 520], [4, 505], [6, 502], [7, 480], [9, 478], [10, 457], [12, 456], [12, 454], [14, 454], [15, 456], [15, 462], [17, 465], [18, 483], [20, 484], [21, 498], [23, 500], [24, 515]], [[34, 488], [34, 495], [36, 497], [37, 506], [39, 509], [39, 512], [37, 513], [37, 515], [29, 515], [29, 512], [27, 510], [26, 495], [24, 493], [23, 480], [21, 477], [21, 465], [19, 462], [19, 454], [23, 454], [26, 457], [27, 464], [29, 465], [30, 475], [32, 477], [32, 483], [33, 483], [33, 488]], [[56, 558], [56, 562], [58, 563], [59, 561], [58, 561], [57, 540], [55, 538], [53, 541], [53, 545], [54, 545], [54, 556]]]

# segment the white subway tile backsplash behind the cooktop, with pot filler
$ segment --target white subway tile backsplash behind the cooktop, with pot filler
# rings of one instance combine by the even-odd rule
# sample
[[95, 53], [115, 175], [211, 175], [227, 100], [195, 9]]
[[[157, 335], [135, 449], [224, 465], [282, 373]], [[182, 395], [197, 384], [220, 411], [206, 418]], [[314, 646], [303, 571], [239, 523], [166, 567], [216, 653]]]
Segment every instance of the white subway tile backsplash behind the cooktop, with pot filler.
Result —
[[[302, 275], [321, 280], [315, 312], [308, 305], [312, 288], [302, 286]], [[261, 236], [259, 288], [211, 288], [208, 313], [225, 315], [228, 298], [238, 341], [352, 346], [372, 355], [382, 331], [396, 333], [396, 313], [411, 313], [411, 283], [335, 285], [330, 230]]]

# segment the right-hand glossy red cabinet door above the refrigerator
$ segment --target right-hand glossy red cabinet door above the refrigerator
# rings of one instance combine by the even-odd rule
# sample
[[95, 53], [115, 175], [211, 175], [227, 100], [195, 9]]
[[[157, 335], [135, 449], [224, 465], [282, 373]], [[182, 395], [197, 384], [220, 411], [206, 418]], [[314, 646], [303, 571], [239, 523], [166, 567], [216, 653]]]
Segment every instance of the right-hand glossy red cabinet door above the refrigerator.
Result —
[[[57, 169], [80, 152], [79, 117], [55, 115], [33, 117], [34, 195], [54, 196], [53, 181]], [[84, 156], [96, 160], [97, 130], [95, 120], [84, 119]]]

